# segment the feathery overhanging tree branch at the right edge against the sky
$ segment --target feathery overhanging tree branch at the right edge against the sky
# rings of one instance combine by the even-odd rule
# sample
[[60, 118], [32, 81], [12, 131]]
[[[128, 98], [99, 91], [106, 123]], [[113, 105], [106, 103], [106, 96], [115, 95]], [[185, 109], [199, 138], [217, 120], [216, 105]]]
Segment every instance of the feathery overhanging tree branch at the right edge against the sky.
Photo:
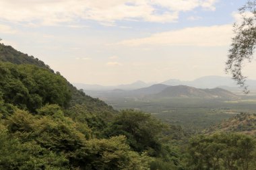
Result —
[[248, 93], [248, 86], [245, 83], [247, 77], [242, 73], [245, 61], [251, 62], [256, 45], [256, 1], [248, 1], [241, 7], [239, 13], [243, 19], [240, 23], [234, 24], [234, 38], [226, 61], [226, 72], [232, 74], [232, 79], [243, 87]]

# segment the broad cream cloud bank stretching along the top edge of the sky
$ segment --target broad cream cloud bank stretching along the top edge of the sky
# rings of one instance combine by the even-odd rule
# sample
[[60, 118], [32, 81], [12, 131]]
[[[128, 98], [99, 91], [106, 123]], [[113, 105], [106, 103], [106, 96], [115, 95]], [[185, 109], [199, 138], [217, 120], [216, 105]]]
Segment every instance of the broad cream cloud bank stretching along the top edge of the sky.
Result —
[[[119, 20], [175, 22], [179, 12], [201, 9], [214, 10], [217, 0], [1, 0], [0, 20], [20, 22], [28, 26], [55, 26], [94, 20], [115, 26]], [[75, 28], [77, 26], [75, 25]]]

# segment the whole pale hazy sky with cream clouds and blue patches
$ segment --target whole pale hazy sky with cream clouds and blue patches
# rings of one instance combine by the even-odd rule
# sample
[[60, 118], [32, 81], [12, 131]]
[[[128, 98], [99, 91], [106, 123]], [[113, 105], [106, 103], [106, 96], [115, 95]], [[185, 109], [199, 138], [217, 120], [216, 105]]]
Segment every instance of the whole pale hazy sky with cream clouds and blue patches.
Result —
[[[225, 75], [247, 0], [1, 0], [0, 38], [71, 83]], [[256, 79], [256, 61], [245, 75]]]

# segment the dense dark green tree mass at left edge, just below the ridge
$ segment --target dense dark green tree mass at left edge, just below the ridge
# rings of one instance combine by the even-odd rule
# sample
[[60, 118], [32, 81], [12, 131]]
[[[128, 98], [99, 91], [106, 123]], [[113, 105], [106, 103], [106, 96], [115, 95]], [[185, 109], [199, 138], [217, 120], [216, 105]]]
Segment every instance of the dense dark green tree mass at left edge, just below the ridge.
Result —
[[0, 62], [0, 91], [6, 103], [35, 112], [46, 103], [67, 107], [71, 92], [66, 80], [33, 65]]

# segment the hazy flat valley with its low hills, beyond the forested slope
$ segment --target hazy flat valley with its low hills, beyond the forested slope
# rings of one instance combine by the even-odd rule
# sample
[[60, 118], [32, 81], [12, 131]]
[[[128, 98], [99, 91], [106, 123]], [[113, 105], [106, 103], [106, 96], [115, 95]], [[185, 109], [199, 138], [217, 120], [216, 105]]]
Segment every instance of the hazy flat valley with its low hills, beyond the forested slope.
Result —
[[151, 85], [140, 89], [86, 91], [116, 110], [147, 112], [191, 133], [200, 132], [239, 113], [255, 113], [256, 96], [240, 95], [221, 88], [197, 89], [185, 85]]

